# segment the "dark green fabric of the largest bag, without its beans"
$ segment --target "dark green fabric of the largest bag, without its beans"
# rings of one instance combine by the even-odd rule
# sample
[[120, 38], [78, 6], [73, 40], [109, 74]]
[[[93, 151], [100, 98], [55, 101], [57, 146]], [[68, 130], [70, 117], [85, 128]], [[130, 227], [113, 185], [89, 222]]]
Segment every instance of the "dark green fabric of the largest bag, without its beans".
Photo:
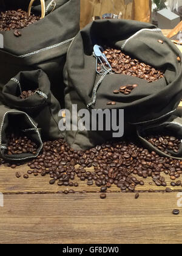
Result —
[[[147, 29], [147, 30], [142, 30]], [[155, 26], [148, 23], [126, 20], [93, 21], [76, 35], [67, 53], [64, 69], [64, 80], [67, 86], [66, 108], [78, 104], [79, 108], [86, 108], [93, 100], [93, 89], [101, 76], [96, 74], [96, 59], [93, 57], [93, 46], [112, 46], [121, 49], [133, 58], [153, 66], [164, 69], [164, 78], [147, 83], [138, 77], [124, 74], [107, 74], [96, 92], [94, 109], [116, 108], [124, 109], [124, 124], [129, 129], [130, 124], [160, 119], [171, 115], [177, 108], [182, 97], [182, 68], [177, 57], [181, 52], [161, 31], [152, 30]], [[140, 31], [132, 37], [136, 32]], [[132, 38], [130, 38], [132, 37]], [[126, 41], [129, 39], [129, 41]], [[163, 40], [164, 43], [158, 43]], [[138, 84], [129, 95], [113, 94], [113, 90], [121, 85]], [[69, 99], [69, 101], [67, 100]], [[106, 105], [109, 101], [116, 101], [116, 105]], [[125, 129], [125, 133], [133, 132]], [[79, 138], [81, 134], [81, 139]], [[104, 132], [98, 139], [96, 132], [69, 132], [67, 141], [75, 149], [87, 149], [100, 142], [112, 139], [110, 132]], [[74, 138], [74, 140], [73, 140]], [[95, 139], [96, 138], [96, 139]]]

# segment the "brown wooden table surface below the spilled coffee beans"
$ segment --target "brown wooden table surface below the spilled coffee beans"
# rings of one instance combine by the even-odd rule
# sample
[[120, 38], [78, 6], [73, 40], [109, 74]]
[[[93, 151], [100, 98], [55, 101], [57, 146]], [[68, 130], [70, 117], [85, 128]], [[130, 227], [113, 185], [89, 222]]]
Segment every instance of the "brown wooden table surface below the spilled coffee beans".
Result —
[[[138, 199], [112, 187], [103, 200], [99, 188], [86, 182], [79, 182], [75, 194], [58, 194], [62, 187], [49, 185], [49, 177], [15, 177], [16, 171], [24, 174], [27, 169], [0, 168], [0, 243], [182, 242], [182, 209], [180, 215], [172, 215], [181, 203], [181, 187], [165, 193], [148, 178], [143, 187], [136, 187], [145, 191]], [[166, 181], [170, 187], [169, 176]], [[147, 193], [150, 188], [158, 193]]]

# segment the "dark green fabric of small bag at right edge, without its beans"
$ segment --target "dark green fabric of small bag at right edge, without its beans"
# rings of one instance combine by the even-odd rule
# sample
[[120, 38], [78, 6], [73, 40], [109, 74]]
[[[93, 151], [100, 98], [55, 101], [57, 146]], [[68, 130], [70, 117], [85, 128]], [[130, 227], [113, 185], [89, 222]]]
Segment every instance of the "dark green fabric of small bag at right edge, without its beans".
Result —
[[143, 144], [144, 148], [149, 149], [149, 151], [155, 151], [158, 155], [162, 157], [172, 157], [175, 159], [182, 160], [182, 143], [180, 144], [180, 149], [178, 153], [175, 153], [174, 151], [169, 151], [166, 149], [167, 152], [169, 152], [170, 155], [164, 153], [163, 151], [160, 151], [160, 149], [153, 146], [149, 141], [147, 141], [144, 137], [150, 134], [161, 134], [164, 133], [166, 135], [174, 136], [177, 138], [180, 138], [182, 140], [182, 110], [181, 108], [178, 108], [177, 111], [174, 113], [174, 115], [170, 116], [170, 118], [166, 119], [163, 123], [156, 123], [152, 126], [141, 126], [137, 129], [138, 137]]

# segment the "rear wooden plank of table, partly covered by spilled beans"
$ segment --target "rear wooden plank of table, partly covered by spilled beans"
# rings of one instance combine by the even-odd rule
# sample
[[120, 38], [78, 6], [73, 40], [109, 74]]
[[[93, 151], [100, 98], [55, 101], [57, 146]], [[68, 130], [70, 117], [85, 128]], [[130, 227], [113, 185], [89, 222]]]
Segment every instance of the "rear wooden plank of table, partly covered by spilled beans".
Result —
[[[59, 190], [75, 190], [75, 191], [88, 191], [88, 192], [97, 192], [100, 190], [99, 187], [96, 187], [96, 185], [89, 186], [87, 185], [87, 180], [81, 181], [75, 176], [75, 180], [73, 182], [78, 182], [78, 187], [65, 187], [61, 186], [59, 187], [56, 183], [54, 185], [49, 184], [50, 177], [45, 176], [42, 177], [40, 174], [39, 176], [34, 177], [33, 174], [29, 176], [29, 179], [24, 179], [23, 174], [26, 173], [26, 170], [28, 170], [29, 167], [24, 165], [20, 166], [18, 168], [12, 169], [1, 166], [0, 173], [1, 173], [1, 179], [0, 179], [0, 192], [1, 193], [23, 193], [23, 192], [39, 192], [42, 191], [42, 193], [56, 193]], [[93, 168], [86, 168], [89, 171], [93, 171]], [[21, 178], [17, 179], [15, 176], [15, 172], [19, 171], [21, 172]], [[167, 187], [172, 188], [173, 190], [182, 191], [182, 187], [171, 187], [170, 183], [172, 180], [170, 180], [169, 175], [161, 174], [165, 177], [167, 182]], [[136, 186], [137, 191], [148, 191], [149, 189], [152, 190], [160, 190], [165, 191], [165, 187], [157, 187], [155, 183], [152, 181], [152, 177], [147, 177], [147, 179], [143, 179], [141, 177], [136, 176], [138, 180], [144, 181], [144, 186]], [[177, 180], [180, 180], [177, 179]], [[177, 181], [176, 180], [176, 181]], [[152, 185], [150, 184], [152, 183]], [[108, 189], [109, 191], [118, 191], [120, 192], [120, 188], [116, 187], [116, 185], [112, 185], [111, 188]]]

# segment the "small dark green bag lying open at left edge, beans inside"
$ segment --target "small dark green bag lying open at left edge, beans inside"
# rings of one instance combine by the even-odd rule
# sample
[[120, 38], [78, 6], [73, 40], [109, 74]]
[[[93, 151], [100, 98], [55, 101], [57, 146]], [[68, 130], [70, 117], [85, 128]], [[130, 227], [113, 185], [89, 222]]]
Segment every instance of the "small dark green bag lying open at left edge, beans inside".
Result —
[[35, 158], [42, 149], [36, 123], [25, 112], [0, 106], [0, 155], [3, 159], [25, 161]]

